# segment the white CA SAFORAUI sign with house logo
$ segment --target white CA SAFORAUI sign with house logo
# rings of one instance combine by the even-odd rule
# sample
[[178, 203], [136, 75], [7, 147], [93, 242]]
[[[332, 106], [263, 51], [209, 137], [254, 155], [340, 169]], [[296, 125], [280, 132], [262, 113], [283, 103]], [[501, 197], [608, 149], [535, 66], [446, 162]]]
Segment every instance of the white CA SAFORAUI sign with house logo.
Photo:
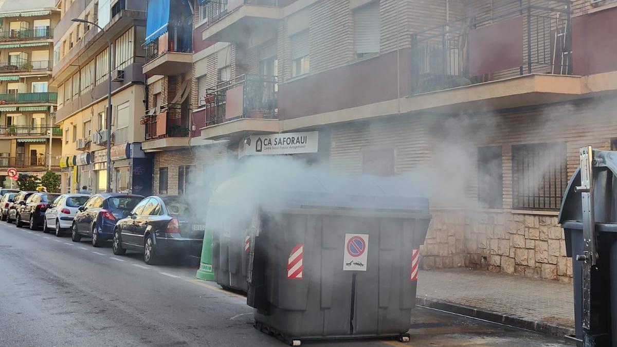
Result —
[[319, 132], [253, 135], [240, 143], [239, 157], [317, 153]]

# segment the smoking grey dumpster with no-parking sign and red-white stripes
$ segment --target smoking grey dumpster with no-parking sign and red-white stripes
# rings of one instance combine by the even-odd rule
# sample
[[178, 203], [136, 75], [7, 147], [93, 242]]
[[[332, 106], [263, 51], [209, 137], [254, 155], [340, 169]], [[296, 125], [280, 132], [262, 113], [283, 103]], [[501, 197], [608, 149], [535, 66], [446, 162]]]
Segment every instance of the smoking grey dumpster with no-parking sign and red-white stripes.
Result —
[[[238, 203], [229, 200], [240, 181], [215, 190], [217, 209]], [[408, 341], [428, 199], [395, 178], [293, 183], [241, 214], [249, 222], [247, 304], [255, 327], [292, 345], [307, 338]]]

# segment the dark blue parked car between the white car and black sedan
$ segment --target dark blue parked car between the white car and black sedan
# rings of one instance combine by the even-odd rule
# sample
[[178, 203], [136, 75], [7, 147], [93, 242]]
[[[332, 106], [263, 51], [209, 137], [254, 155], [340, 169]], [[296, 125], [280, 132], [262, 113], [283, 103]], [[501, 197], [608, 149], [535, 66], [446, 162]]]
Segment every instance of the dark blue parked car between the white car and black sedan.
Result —
[[91, 196], [83, 206], [78, 207], [71, 227], [74, 242], [82, 236], [92, 238], [92, 245], [99, 247], [114, 236], [118, 220], [127, 217], [144, 197], [123, 193], [101, 193]]

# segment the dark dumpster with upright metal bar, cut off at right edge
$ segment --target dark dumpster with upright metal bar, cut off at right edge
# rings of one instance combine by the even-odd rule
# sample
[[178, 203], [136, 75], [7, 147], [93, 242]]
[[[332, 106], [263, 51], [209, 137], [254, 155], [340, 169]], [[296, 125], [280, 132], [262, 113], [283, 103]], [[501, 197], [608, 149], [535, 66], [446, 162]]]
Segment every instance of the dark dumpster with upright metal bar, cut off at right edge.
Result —
[[559, 222], [572, 257], [576, 338], [617, 346], [617, 152], [581, 148]]

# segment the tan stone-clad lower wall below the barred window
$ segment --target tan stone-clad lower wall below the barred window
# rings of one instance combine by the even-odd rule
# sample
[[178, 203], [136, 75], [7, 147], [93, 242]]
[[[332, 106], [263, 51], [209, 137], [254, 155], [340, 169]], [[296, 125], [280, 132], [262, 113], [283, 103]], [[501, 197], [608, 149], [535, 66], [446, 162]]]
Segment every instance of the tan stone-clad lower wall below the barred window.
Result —
[[554, 215], [433, 211], [424, 269], [473, 267], [571, 282], [563, 229]]

